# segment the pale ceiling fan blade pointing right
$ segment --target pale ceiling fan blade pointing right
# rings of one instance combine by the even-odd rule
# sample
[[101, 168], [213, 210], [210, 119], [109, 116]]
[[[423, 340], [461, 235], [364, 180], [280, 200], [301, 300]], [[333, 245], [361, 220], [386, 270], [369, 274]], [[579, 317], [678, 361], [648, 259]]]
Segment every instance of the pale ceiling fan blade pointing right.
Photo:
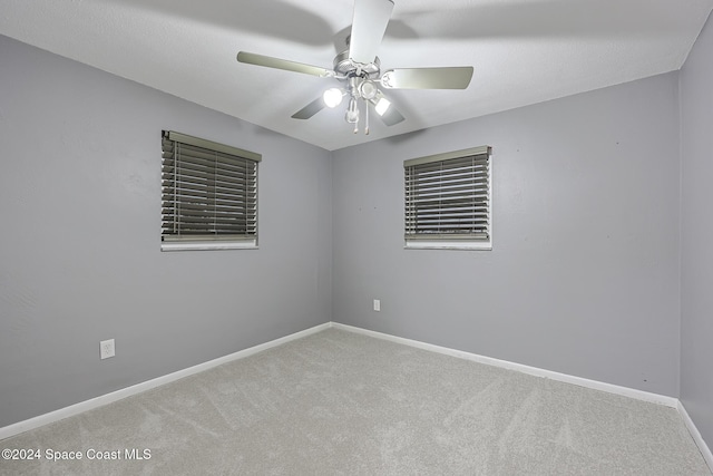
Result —
[[466, 89], [472, 78], [472, 66], [451, 68], [390, 69], [381, 77], [389, 89]]

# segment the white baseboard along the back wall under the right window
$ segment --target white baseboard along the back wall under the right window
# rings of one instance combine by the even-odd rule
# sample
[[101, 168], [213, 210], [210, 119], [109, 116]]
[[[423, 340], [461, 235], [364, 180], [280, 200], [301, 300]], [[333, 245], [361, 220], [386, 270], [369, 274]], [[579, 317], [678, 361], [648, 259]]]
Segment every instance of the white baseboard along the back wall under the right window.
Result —
[[628, 387], [605, 383], [597, 380], [589, 380], [582, 377], [569, 376], [567, 373], [559, 373], [551, 370], [539, 369], [537, 367], [524, 366], [521, 363], [508, 362], [507, 360], [494, 359], [491, 357], [479, 356], [477, 353], [465, 352], [462, 350], [449, 349], [447, 347], [433, 346], [431, 343], [420, 342], [418, 340], [404, 339], [401, 337], [395, 337], [395, 336], [377, 332], [377, 331], [370, 331], [367, 329], [355, 328], [352, 326], [340, 324], [336, 322], [332, 322], [332, 327], [335, 329], [342, 329], [345, 331], [355, 332], [363, 336], [370, 336], [378, 339], [389, 340], [391, 342], [416, 347], [418, 349], [443, 353], [446, 356], [458, 357], [459, 359], [466, 359], [466, 360], [471, 360], [478, 363], [485, 363], [487, 366], [501, 367], [508, 370], [517, 370], [518, 372], [528, 373], [536, 377], [543, 377], [551, 380], [563, 381], [566, 383], [573, 383], [579, 387], [586, 387], [595, 390], [606, 391], [608, 394], [621, 395], [623, 397], [635, 398], [637, 400], [648, 401], [651, 404], [664, 405], [671, 408], [678, 408], [678, 399], [674, 397], [666, 397], [664, 395], [652, 394], [643, 390], [636, 390]]

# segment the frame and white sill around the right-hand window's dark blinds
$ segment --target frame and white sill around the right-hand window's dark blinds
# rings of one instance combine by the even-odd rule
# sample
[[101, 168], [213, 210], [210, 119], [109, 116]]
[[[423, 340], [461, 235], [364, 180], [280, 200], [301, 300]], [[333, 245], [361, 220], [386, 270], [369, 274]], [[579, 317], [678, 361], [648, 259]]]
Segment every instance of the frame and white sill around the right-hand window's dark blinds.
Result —
[[[409, 167], [447, 163], [448, 161], [462, 159], [469, 156], [486, 156], [487, 158], [487, 239], [478, 239], [475, 235], [472, 237], [463, 235], [441, 234], [438, 236], [429, 237], [427, 233], [420, 235], [409, 234], [409, 183], [408, 173]], [[403, 247], [407, 250], [492, 250], [492, 147], [480, 146], [471, 147], [460, 150], [452, 150], [441, 154], [429, 155], [424, 157], [412, 158], [403, 162], [404, 168], [404, 203], [403, 203]]]

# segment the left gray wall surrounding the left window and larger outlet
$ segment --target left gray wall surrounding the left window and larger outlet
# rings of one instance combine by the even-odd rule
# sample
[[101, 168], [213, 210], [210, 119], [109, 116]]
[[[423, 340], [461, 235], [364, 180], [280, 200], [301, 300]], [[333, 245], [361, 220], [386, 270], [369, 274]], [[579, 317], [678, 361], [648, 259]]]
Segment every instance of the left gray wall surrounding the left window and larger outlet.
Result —
[[[0, 65], [0, 427], [331, 320], [328, 152], [6, 37]], [[263, 154], [260, 250], [159, 251], [163, 128]]]

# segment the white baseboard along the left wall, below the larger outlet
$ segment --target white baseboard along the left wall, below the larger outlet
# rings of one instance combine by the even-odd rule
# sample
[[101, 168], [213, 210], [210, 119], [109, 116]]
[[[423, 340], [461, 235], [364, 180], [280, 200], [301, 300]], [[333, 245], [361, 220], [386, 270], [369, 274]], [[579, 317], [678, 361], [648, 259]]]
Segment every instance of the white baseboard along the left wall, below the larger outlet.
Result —
[[283, 343], [290, 342], [292, 340], [301, 339], [303, 337], [307, 337], [310, 334], [320, 332], [324, 329], [329, 329], [332, 326], [331, 322], [326, 322], [324, 324], [315, 326], [313, 328], [295, 332], [290, 336], [282, 337], [280, 339], [271, 340], [270, 342], [261, 343], [255, 347], [251, 347], [247, 349], [243, 349], [235, 353], [231, 353], [228, 356], [219, 357], [214, 360], [209, 360], [207, 362], [198, 363], [197, 366], [189, 367], [187, 369], [178, 370], [173, 373], [168, 373], [166, 376], [157, 377], [152, 380], [147, 380], [141, 383], [134, 385], [131, 387], [126, 387], [117, 391], [113, 391], [110, 394], [102, 395], [100, 397], [92, 398], [90, 400], [80, 401], [75, 405], [70, 405], [69, 407], [60, 408], [55, 411], [50, 411], [49, 414], [40, 415], [35, 418], [30, 418], [28, 420], [18, 421], [17, 424], [9, 425], [7, 427], [0, 428], [0, 440], [4, 438], [9, 438], [14, 435], [19, 435], [21, 433], [39, 428], [45, 425], [49, 425], [55, 421], [59, 421], [61, 419], [81, 414], [84, 411], [88, 411], [95, 409], [97, 407], [105, 406], [107, 404], [111, 404], [114, 401], [120, 400], [126, 397], [130, 397], [133, 395], [140, 394], [146, 390], [150, 390], [153, 388], [159, 387], [162, 385], [169, 383], [172, 381], [176, 381], [184, 377], [192, 376], [194, 373], [202, 372], [204, 370], [212, 369], [214, 367], [221, 366], [223, 363], [231, 362], [237, 359], [244, 359], [246, 357], [253, 356], [263, 350], [267, 350], [273, 347], [282, 346]]

